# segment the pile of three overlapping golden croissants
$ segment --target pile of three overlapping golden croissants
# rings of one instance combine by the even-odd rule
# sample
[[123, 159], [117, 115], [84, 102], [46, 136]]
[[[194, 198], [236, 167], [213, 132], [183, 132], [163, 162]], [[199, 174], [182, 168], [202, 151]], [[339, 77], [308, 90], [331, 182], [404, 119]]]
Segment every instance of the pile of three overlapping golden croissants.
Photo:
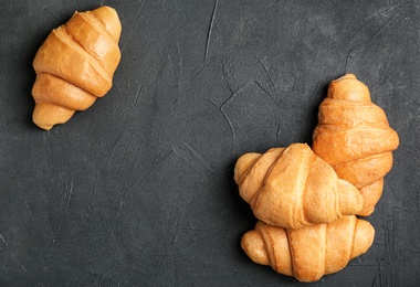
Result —
[[372, 244], [374, 227], [356, 215], [374, 211], [398, 145], [365, 84], [353, 74], [333, 81], [312, 149], [292, 144], [238, 159], [240, 195], [260, 220], [242, 248], [301, 281], [343, 269]]

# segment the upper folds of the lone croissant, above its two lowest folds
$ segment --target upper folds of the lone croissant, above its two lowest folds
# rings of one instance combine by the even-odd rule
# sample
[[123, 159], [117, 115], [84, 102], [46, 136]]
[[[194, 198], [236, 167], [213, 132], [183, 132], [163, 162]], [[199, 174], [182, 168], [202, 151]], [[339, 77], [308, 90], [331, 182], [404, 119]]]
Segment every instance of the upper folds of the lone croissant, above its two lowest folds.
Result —
[[[120, 22], [112, 8], [75, 12], [54, 29], [33, 60], [36, 73], [48, 73], [103, 96], [119, 63]], [[106, 25], [104, 25], [106, 23]]]

